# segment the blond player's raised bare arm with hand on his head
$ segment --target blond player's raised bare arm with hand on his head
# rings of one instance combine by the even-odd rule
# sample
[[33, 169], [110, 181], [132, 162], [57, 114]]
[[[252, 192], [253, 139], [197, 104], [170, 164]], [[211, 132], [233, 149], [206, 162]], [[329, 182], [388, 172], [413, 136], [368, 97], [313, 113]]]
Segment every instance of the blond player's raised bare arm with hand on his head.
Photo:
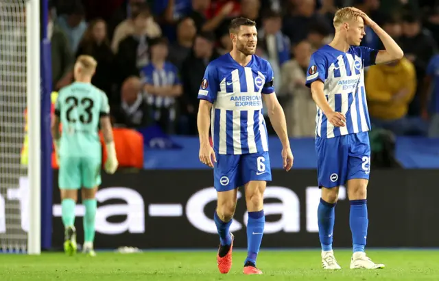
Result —
[[393, 62], [398, 59], [402, 59], [404, 56], [404, 52], [398, 44], [390, 37], [387, 32], [385, 32], [377, 23], [372, 21], [367, 14], [353, 8], [353, 10], [357, 10], [357, 12], [361, 12], [361, 17], [366, 25], [369, 25], [375, 34], [379, 37], [381, 42], [383, 42], [385, 50], [381, 50], [378, 52], [377, 59], [375, 59], [375, 64], [385, 64], [388, 62]]

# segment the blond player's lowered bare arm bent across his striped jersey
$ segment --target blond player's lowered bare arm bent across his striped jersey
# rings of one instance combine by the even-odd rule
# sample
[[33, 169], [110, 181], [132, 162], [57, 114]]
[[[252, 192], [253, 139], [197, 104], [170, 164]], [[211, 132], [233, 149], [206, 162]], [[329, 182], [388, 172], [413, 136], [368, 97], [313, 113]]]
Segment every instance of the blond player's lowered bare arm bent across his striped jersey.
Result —
[[327, 116], [329, 122], [336, 127], [342, 127], [346, 124], [346, 117], [340, 112], [333, 111], [329, 105], [326, 96], [323, 92], [324, 84], [321, 80], [316, 80], [311, 83], [311, 94], [314, 102]]

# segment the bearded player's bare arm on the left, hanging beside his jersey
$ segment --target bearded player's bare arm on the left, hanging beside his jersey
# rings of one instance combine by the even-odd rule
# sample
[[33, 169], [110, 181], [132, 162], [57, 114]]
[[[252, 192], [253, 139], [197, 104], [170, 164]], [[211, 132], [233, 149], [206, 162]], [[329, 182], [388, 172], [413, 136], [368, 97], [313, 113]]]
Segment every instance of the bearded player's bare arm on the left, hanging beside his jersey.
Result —
[[209, 142], [209, 128], [211, 126], [211, 109], [212, 104], [209, 101], [200, 100], [198, 107], [197, 126], [200, 137], [200, 161], [213, 168], [213, 162], [216, 162], [215, 152]]

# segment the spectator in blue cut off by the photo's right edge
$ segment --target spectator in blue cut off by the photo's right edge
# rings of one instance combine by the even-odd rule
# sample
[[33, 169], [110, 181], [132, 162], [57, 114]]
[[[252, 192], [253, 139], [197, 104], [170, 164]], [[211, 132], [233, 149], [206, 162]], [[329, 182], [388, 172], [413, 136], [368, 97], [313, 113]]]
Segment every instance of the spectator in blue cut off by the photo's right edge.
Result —
[[439, 137], [439, 55], [431, 58], [421, 98], [422, 116], [429, 120], [429, 137]]

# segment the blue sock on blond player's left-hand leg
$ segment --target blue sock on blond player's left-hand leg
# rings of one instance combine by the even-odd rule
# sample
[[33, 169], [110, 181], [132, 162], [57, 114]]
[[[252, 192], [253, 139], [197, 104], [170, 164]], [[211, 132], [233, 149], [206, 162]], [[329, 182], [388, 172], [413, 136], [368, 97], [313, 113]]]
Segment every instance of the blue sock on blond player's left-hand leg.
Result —
[[335, 204], [328, 203], [320, 198], [318, 205], [318, 236], [320, 237], [320, 244], [322, 251], [332, 250], [333, 230], [335, 223]]

